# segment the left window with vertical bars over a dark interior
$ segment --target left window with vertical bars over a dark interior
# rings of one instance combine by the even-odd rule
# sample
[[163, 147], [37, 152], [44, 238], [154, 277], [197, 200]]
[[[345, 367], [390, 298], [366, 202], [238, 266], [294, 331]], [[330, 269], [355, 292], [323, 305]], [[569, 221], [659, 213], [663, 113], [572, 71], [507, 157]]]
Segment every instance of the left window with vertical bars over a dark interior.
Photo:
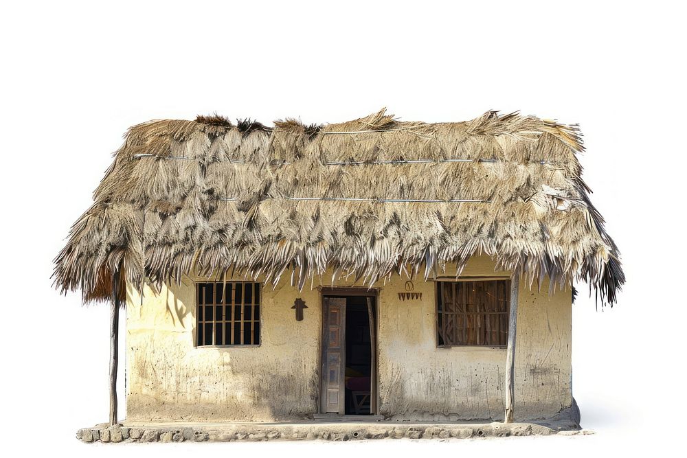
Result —
[[260, 345], [260, 284], [197, 283], [196, 345]]

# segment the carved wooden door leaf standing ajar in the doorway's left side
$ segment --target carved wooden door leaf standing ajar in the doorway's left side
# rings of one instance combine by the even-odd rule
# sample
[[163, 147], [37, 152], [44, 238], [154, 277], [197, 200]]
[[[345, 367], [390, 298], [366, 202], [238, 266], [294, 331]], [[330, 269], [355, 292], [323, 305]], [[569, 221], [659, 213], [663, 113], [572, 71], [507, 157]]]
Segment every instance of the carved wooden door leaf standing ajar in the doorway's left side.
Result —
[[322, 339], [322, 413], [346, 414], [346, 298], [324, 297]]

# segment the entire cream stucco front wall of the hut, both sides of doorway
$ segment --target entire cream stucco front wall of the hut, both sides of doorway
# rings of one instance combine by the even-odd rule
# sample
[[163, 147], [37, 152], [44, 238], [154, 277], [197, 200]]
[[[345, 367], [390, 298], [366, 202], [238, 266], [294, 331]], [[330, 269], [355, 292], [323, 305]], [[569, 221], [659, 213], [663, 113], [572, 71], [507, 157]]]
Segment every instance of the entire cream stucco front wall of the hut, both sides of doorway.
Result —
[[[451, 275], [451, 272], [447, 272]], [[462, 275], [494, 276], [488, 257]], [[326, 278], [326, 277], [325, 277]], [[423, 300], [400, 301], [405, 278], [379, 284], [379, 411], [395, 420], [502, 420], [506, 350], [436, 347], [433, 282]], [[325, 280], [326, 282], [326, 280]], [[346, 282], [338, 282], [338, 286]], [[330, 285], [328, 285], [330, 286]], [[516, 419], [550, 417], [572, 403], [570, 290], [519, 288]], [[308, 308], [295, 321], [294, 300]], [[322, 306], [317, 284], [299, 292], [288, 275], [262, 288], [258, 347], [194, 347], [195, 288], [186, 277], [144, 299], [127, 286], [129, 421], [275, 421], [317, 413]]]

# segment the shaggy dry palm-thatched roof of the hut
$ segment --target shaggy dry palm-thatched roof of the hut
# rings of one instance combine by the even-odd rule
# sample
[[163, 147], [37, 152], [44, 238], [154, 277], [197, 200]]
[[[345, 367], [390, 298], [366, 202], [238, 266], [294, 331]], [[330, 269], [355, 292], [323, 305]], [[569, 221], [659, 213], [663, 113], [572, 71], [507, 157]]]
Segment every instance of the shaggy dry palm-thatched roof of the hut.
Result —
[[577, 126], [488, 112], [469, 122], [266, 127], [219, 116], [133, 126], [56, 258], [56, 285], [108, 299], [113, 269], [160, 284], [240, 271], [302, 287], [333, 267], [367, 284], [497, 267], [611, 304], [618, 249], [589, 202]]

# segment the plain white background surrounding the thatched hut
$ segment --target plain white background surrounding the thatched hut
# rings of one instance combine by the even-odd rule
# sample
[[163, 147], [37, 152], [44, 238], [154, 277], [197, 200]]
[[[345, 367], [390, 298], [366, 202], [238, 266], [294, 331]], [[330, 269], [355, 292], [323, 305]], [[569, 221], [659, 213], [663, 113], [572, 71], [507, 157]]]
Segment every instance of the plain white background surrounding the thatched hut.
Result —
[[[572, 456], [684, 443], [686, 15], [677, 2], [19, 3], [0, 13], [3, 448]], [[214, 111], [339, 122], [381, 106], [425, 122], [497, 109], [581, 124], [584, 178], [628, 280], [612, 309], [585, 294], [574, 305], [574, 396], [597, 434], [80, 444], [76, 429], [108, 415], [109, 310], [60, 296], [49, 277], [124, 130]]]

